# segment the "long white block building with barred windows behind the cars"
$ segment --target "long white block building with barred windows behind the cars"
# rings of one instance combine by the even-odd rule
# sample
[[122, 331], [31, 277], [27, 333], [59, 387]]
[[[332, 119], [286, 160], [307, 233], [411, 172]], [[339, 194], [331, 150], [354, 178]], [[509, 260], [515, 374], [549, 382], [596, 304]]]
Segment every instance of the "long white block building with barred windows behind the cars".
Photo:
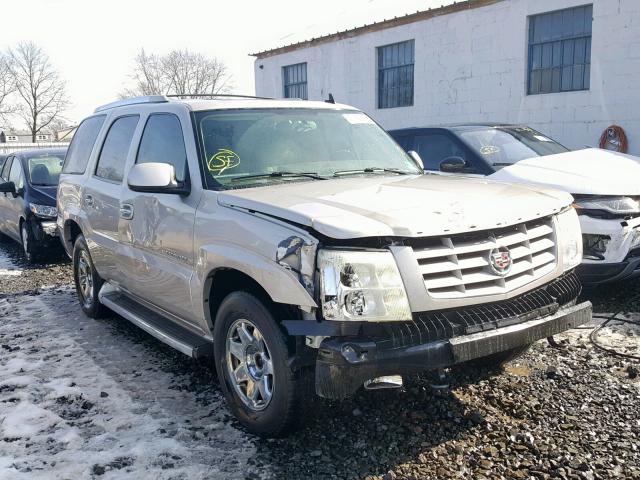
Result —
[[640, 0], [468, 0], [255, 54], [256, 94], [383, 127], [528, 124], [570, 148], [611, 124], [640, 154]]

